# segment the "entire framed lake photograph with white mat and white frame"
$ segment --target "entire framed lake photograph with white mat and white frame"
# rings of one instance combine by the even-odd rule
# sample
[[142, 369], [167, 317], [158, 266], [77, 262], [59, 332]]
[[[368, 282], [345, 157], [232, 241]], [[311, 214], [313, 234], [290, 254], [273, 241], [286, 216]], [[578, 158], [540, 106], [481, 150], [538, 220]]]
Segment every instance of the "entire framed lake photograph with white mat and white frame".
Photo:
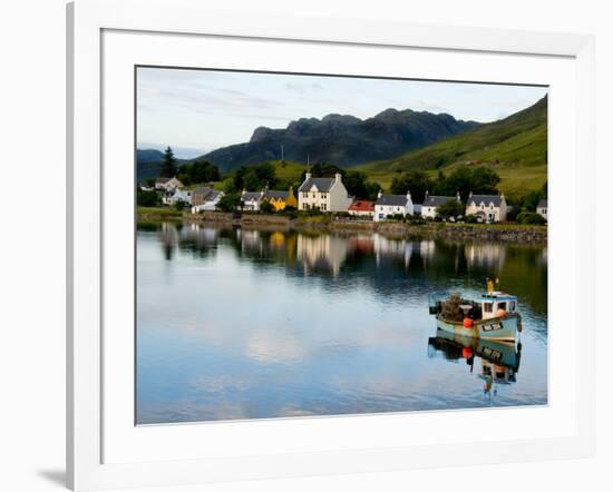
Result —
[[591, 37], [68, 21], [72, 489], [593, 452]]

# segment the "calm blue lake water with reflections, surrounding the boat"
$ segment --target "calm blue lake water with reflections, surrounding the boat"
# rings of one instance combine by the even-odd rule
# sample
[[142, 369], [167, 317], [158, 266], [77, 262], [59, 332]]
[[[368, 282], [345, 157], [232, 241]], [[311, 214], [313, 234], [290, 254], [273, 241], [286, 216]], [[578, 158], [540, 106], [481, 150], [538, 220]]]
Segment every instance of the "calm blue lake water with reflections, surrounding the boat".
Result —
[[[518, 296], [518, 346], [438, 334], [428, 294]], [[137, 423], [547, 403], [545, 247], [139, 225]]]

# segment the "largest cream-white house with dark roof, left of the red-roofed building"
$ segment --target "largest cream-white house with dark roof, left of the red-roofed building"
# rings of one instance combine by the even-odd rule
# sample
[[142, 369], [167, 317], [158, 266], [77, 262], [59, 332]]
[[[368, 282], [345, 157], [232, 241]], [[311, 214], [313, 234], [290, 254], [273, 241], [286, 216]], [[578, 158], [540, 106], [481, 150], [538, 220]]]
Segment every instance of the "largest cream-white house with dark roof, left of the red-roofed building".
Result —
[[351, 201], [339, 173], [333, 178], [313, 178], [306, 173], [304, 183], [298, 188], [300, 210], [347, 211]]

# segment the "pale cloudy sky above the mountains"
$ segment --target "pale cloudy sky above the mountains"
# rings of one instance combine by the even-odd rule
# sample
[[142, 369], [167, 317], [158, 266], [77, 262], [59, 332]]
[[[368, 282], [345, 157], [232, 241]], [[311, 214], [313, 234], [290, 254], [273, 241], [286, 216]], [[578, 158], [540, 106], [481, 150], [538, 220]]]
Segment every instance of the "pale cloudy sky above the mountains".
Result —
[[138, 68], [138, 148], [179, 158], [249, 141], [264, 126], [329, 114], [364, 119], [387, 108], [448, 112], [480, 122], [535, 104], [545, 87]]

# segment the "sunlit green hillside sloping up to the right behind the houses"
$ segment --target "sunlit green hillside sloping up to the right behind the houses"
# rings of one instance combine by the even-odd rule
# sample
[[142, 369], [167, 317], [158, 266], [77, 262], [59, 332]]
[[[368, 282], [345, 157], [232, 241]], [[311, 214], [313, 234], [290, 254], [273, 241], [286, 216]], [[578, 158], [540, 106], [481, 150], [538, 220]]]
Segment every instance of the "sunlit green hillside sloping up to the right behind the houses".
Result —
[[507, 195], [538, 189], [547, 179], [547, 98], [499, 121], [395, 159], [352, 167], [389, 187], [395, 176], [410, 169], [436, 175], [457, 166], [488, 166], [500, 176]]

